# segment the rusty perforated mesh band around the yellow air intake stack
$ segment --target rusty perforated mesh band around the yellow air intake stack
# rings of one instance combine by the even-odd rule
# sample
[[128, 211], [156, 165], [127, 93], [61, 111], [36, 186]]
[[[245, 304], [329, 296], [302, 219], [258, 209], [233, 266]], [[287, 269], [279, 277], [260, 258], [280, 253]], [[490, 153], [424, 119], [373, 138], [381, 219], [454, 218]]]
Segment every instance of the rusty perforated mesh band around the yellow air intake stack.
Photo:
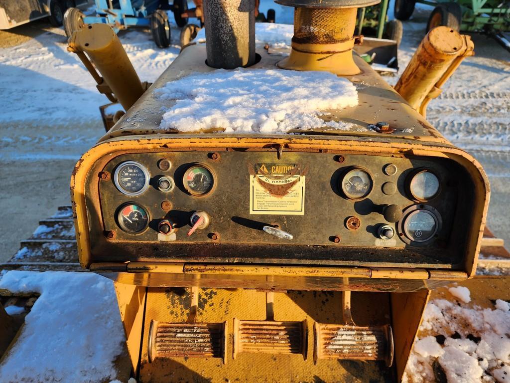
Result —
[[352, 39], [355, 9], [295, 8], [294, 37], [303, 44], [332, 44]]

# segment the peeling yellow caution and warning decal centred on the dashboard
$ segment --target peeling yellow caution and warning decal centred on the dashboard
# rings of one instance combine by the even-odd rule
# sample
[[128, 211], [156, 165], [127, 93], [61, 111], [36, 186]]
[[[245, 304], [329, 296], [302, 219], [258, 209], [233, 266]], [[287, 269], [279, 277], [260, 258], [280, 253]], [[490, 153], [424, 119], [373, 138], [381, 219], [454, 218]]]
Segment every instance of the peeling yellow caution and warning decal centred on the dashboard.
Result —
[[250, 214], [304, 214], [305, 172], [295, 163], [249, 165]]

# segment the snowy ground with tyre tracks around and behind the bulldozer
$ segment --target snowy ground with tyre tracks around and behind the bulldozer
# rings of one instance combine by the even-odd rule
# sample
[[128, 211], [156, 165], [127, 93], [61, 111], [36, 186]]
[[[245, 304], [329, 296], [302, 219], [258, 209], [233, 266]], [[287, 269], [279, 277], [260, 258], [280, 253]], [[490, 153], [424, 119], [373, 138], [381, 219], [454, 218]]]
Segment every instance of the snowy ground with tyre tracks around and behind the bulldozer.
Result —
[[[428, 11], [418, 10], [411, 21], [404, 23], [401, 68], [423, 37], [427, 15]], [[135, 68], [141, 71], [142, 80], [154, 80], [179, 52], [175, 28], [174, 45], [164, 52], [156, 51], [146, 31], [123, 33], [120, 38], [134, 58]], [[430, 103], [428, 118], [485, 167], [492, 187], [488, 224], [510, 244], [506, 223], [510, 216], [510, 54], [485, 36], [473, 35], [473, 40], [476, 56], [461, 65], [441, 97]], [[23, 50], [33, 41], [54, 45], [46, 49], [43, 44], [40, 56], [32, 53], [25, 57]], [[0, 73], [9, 75], [0, 76], [0, 100], [4, 105], [0, 114], [0, 168], [4, 174], [0, 209], [5, 217], [0, 222], [0, 261], [18, 250], [19, 242], [31, 235], [40, 219], [53, 214], [57, 206], [70, 204], [72, 168], [104, 132], [98, 110], [89, 109], [107, 101], [94, 90], [92, 79], [80, 63], [68, 58], [65, 41], [63, 30], [50, 27], [45, 20], [0, 32]], [[61, 71], [45, 73], [48, 68], [44, 63], [52, 57], [60, 60]], [[70, 73], [70, 69], [77, 74], [62, 80], [59, 74]], [[47, 91], [31, 93], [33, 87], [23, 88], [18, 78], [50, 86]], [[69, 83], [72, 88], [61, 87]]]

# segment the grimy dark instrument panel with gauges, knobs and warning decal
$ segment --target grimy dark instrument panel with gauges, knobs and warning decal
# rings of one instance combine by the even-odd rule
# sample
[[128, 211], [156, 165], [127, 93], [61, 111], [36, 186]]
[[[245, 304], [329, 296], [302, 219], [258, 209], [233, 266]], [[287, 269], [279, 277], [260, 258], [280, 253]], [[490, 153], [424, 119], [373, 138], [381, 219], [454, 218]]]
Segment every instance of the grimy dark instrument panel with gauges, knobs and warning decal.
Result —
[[453, 268], [474, 198], [467, 172], [446, 158], [133, 153], [103, 173], [112, 177], [98, 182], [98, 260], [122, 243], [113, 257], [124, 261]]

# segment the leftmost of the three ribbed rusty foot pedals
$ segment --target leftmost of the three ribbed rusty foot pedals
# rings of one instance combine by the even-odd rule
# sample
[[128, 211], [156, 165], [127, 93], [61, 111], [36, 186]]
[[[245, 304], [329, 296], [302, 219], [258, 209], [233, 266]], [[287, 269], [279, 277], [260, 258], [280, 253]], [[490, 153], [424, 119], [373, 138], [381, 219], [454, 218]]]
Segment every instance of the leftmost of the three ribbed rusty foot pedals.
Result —
[[149, 360], [157, 357], [217, 357], [225, 355], [225, 323], [163, 323], [152, 321]]

